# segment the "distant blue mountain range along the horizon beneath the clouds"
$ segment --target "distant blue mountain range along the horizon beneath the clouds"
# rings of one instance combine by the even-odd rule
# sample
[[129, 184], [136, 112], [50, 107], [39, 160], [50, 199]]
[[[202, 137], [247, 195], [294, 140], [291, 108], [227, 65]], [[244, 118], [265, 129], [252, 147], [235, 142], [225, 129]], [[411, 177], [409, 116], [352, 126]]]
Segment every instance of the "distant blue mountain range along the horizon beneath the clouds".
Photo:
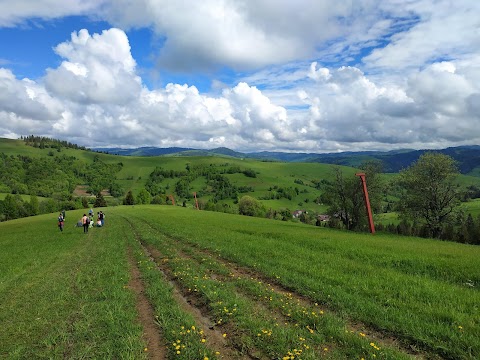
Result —
[[318, 162], [352, 167], [359, 167], [362, 163], [368, 160], [380, 160], [384, 165], [384, 171], [391, 173], [396, 173], [407, 168], [413, 162], [417, 161], [425, 152], [434, 151], [449, 155], [455, 159], [458, 162], [458, 167], [462, 174], [472, 173], [472, 175], [480, 176], [480, 146], [478, 145], [450, 147], [441, 150], [400, 149], [392, 151], [356, 151], [326, 154], [269, 151], [241, 153], [225, 147], [210, 150], [178, 147], [141, 147], [136, 149], [101, 148], [93, 150], [133, 156], [227, 156], [234, 158], [252, 158], [264, 161]]

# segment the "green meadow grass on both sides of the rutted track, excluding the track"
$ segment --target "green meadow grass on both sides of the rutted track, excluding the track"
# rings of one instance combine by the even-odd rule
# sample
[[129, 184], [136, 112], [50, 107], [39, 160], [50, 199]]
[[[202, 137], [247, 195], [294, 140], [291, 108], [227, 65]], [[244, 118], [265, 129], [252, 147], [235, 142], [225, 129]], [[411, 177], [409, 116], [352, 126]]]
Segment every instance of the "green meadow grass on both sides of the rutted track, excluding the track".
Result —
[[81, 211], [67, 213], [63, 234], [56, 214], [0, 224], [0, 357], [140, 356], [125, 288], [132, 238], [125, 217], [429, 354], [480, 356], [479, 247], [171, 206], [106, 210], [107, 227], [89, 235], [72, 226]]

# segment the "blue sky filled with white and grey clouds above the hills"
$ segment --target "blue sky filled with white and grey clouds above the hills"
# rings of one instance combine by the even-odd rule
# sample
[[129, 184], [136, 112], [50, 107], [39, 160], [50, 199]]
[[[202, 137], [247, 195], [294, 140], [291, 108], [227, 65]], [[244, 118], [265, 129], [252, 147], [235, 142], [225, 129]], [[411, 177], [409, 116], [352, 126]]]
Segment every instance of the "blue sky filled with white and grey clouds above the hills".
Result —
[[0, 137], [480, 144], [477, 0], [0, 0]]

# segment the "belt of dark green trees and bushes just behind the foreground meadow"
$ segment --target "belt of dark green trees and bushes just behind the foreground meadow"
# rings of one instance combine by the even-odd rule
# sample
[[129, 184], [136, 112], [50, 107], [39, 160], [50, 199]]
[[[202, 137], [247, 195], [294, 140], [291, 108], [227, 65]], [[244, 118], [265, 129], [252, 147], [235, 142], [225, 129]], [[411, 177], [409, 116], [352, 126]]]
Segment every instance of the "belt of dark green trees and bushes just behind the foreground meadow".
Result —
[[[354, 169], [346, 171], [344, 167], [331, 165], [328, 174], [319, 174], [313, 180], [302, 179], [298, 174], [292, 177], [290, 186], [272, 182], [268, 191], [260, 196], [256, 192], [254, 197], [253, 186], [238, 185], [228, 175], [255, 180], [259, 173], [232, 164], [226, 157], [224, 163], [192, 161], [183, 170], [157, 166], [144, 188], [133, 191], [122, 188], [118, 179], [124, 167], [122, 156], [118, 156], [118, 162], [105, 162], [98, 153], [69, 142], [33, 135], [22, 140], [30, 147], [48, 152], [46, 156], [0, 153], [0, 193], [7, 194], [0, 200], [1, 221], [90, 206], [175, 203], [200, 210], [368, 230], [363, 193], [358, 177], [353, 175]], [[67, 155], [66, 149], [90, 152], [91, 160]], [[265, 164], [267, 172], [268, 162]], [[377, 231], [480, 244], [480, 215], [472, 216], [460, 206], [462, 202], [480, 198], [480, 187], [459, 180], [458, 162], [451, 156], [424, 152], [393, 177], [383, 173], [384, 163], [378, 159], [369, 159], [358, 168], [367, 174], [374, 213], [398, 214], [395, 223], [378, 223]], [[87, 190], [87, 195], [75, 195], [78, 185]], [[302, 203], [294, 201], [303, 195]], [[281, 208], [264, 205], [264, 200], [272, 199], [285, 199], [291, 205]], [[324, 204], [328, 209], [322, 214], [292, 211], [309, 201]]]

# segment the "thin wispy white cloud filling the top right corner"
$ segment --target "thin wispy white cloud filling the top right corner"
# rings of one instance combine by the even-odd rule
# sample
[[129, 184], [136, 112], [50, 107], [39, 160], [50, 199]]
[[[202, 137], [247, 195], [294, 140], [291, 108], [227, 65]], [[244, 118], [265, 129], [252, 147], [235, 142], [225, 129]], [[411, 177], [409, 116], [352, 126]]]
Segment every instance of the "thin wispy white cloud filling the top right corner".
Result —
[[[384, 6], [389, 11], [395, 11], [391, 4], [386, 4]], [[410, 29], [394, 34], [387, 46], [366, 56], [363, 61], [367, 66], [418, 68], [452, 54], [468, 56], [480, 48], [480, 2], [421, 0], [398, 5], [400, 11], [410, 12], [418, 22]]]

